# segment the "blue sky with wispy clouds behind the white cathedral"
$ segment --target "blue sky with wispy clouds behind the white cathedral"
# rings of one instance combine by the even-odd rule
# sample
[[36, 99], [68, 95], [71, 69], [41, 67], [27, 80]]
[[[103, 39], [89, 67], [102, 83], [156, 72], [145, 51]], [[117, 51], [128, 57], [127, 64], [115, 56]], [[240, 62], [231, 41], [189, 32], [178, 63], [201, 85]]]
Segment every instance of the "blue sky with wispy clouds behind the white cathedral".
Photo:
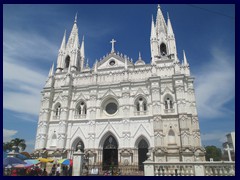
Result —
[[[235, 131], [235, 6], [162, 4], [169, 12], [178, 58], [185, 50], [195, 77], [195, 94], [203, 145], [221, 147]], [[33, 151], [41, 90], [56, 65], [64, 31], [67, 37], [78, 12], [79, 38], [92, 67], [115, 50], [150, 61], [151, 16], [156, 4], [3, 5], [3, 141], [18, 137]]]

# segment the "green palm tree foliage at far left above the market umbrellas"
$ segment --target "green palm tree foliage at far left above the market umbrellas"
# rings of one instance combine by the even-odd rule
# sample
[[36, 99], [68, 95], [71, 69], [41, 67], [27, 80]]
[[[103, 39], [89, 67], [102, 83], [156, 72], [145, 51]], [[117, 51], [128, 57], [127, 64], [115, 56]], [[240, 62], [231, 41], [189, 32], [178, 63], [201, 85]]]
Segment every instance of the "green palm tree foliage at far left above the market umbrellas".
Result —
[[10, 142], [3, 143], [3, 151], [9, 152], [12, 150], [13, 146], [16, 146], [17, 149], [21, 149], [21, 151], [24, 151], [27, 147], [24, 139], [15, 138], [12, 139]]

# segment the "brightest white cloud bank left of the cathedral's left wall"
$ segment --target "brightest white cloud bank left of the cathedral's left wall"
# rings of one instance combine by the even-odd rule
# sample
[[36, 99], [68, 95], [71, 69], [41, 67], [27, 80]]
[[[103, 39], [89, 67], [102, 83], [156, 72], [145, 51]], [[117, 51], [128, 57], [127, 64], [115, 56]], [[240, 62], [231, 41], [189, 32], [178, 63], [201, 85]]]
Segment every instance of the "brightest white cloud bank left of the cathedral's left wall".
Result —
[[3, 81], [13, 84], [15, 91], [4, 91], [3, 108], [37, 115], [46, 77], [19, 64], [3, 62]]

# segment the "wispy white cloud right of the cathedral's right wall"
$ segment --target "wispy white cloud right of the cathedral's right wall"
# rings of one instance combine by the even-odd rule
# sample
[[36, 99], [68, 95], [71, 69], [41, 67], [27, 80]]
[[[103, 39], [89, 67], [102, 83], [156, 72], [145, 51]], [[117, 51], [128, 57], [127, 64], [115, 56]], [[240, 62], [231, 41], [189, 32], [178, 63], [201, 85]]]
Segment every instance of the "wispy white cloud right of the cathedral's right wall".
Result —
[[234, 113], [225, 104], [235, 98], [235, 57], [218, 48], [212, 49], [212, 56], [195, 74], [198, 113], [204, 118]]

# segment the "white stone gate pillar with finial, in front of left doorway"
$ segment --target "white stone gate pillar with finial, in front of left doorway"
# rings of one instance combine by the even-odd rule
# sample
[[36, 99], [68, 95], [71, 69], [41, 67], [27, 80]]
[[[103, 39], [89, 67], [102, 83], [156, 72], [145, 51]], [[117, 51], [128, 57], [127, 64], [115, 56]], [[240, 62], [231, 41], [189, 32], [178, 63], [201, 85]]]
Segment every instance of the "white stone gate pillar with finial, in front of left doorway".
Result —
[[73, 171], [72, 176], [81, 176], [83, 170], [84, 153], [81, 151], [81, 145], [78, 145], [77, 151], [73, 153]]

